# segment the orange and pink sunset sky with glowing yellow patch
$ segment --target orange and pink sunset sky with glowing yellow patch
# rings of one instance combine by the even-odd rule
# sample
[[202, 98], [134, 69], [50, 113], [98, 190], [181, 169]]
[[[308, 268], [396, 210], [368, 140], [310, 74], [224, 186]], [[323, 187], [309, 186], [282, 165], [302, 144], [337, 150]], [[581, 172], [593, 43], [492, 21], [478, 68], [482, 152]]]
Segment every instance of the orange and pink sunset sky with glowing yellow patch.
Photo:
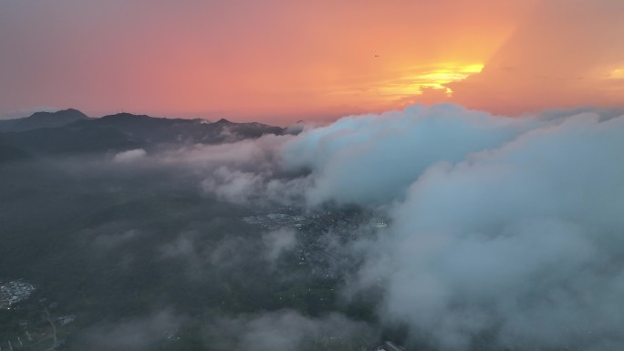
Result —
[[0, 117], [624, 105], [621, 0], [0, 0]]

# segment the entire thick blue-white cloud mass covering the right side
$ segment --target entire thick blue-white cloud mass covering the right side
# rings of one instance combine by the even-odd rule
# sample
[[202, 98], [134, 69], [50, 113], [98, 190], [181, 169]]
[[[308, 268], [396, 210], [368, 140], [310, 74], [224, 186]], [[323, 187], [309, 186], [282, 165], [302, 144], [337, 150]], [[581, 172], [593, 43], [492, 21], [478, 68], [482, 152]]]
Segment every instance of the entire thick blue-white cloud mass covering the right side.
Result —
[[[340, 119], [290, 141], [307, 200], [390, 204], [358, 290], [412, 342], [624, 347], [624, 117], [454, 106]], [[368, 249], [367, 249], [368, 248]]]

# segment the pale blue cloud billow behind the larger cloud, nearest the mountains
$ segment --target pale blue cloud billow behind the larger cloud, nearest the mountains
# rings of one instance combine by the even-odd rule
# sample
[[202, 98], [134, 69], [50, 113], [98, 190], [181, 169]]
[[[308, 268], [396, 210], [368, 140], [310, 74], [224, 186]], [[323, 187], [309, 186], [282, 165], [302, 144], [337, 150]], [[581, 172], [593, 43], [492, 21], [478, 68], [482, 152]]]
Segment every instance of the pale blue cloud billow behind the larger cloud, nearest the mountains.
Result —
[[433, 163], [456, 162], [471, 152], [500, 146], [535, 124], [455, 105], [416, 105], [312, 129], [290, 141], [283, 156], [288, 167], [316, 173], [316, 184], [308, 191], [310, 203], [379, 204], [401, 198]]

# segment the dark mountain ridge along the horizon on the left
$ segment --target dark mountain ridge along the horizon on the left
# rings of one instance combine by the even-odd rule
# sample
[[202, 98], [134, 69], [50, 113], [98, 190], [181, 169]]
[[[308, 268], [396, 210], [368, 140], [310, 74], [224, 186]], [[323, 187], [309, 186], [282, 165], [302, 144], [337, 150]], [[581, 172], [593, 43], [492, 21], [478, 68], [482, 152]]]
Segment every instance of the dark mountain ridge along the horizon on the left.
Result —
[[[283, 135], [286, 129], [257, 122], [227, 119], [166, 119], [122, 112], [88, 118], [78, 109], [36, 112], [23, 119], [7, 120], [0, 128], [3, 160], [24, 160], [26, 155], [79, 155], [154, 149], [162, 145], [219, 144], [256, 139], [265, 134]], [[7, 122], [3, 121], [3, 122]], [[15, 153], [15, 155], [13, 155]]]

